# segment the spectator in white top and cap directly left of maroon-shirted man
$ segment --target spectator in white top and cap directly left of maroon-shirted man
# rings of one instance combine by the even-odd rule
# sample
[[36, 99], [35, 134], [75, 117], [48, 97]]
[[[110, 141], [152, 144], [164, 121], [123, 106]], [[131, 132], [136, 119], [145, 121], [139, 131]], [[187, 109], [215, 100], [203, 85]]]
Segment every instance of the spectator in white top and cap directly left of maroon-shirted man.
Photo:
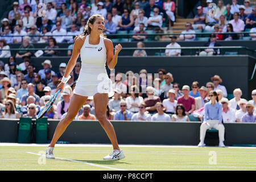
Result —
[[163, 100], [163, 106], [166, 108], [167, 114], [174, 114], [177, 106], [177, 101], [175, 100], [176, 92], [174, 89], [168, 91], [168, 98]]

